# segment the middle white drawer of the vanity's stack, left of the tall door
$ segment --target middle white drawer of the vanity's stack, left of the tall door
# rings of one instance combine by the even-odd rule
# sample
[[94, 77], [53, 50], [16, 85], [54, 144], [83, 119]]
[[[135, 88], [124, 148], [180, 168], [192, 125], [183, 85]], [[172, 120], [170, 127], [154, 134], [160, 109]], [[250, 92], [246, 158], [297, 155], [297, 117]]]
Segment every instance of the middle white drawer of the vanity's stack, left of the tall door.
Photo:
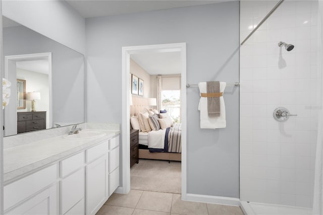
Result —
[[85, 196], [84, 168], [62, 180], [62, 213], [66, 213]]

